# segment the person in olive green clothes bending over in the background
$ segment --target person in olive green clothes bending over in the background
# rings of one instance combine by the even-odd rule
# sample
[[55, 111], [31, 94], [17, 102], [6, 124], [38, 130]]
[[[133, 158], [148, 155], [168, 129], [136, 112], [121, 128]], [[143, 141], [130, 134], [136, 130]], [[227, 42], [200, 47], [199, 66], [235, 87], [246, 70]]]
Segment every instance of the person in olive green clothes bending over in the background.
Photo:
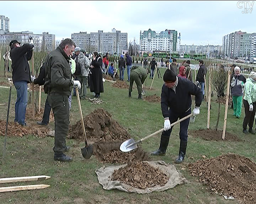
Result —
[[138, 89], [138, 98], [142, 98], [142, 84], [148, 76], [148, 70], [143, 67], [133, 66], [130, 72], [130, 87], [129, 87], [129, 97], [131, 97], [133, 82], [135, 81]]

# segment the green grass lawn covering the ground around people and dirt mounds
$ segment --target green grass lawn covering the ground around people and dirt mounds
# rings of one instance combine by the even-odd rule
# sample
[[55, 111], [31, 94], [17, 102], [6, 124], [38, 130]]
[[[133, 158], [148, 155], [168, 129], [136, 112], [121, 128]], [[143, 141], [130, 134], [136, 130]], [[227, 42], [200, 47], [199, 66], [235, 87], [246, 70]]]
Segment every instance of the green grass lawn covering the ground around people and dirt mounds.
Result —
[[[2, 62], [1, 62], [2, 64]], [[0, 69], [1, 72], [2, 69]], [[160, 69], [163, 76], [165, 69]], [[126, 79], [126, 73], [125, 79]], [[0, 81], [5, 80], [1, 78]], [[147, 79], [146, 86], [149, 87], [151, 79]], [[146, 90], [146, 95], [161, 95], [162, 79], [155, 77], [153, 90]], [[8, 103], [9, 89], [0, 89], [0, 103]], [[92, 96], [92, 93], [88, 93]], [[215, 95], [216, 97], [216, 95]], [[213, 101], [215, 100], [213, 97]], [[44, 106], [46, 95], [42, 94], [42, 106]], [[133, 89], [132, 98], [128, 98], [128, 90], [117, 89], [111, 86], [111, 83], [104, 83], [104, 93], [101, 99], [105, 102], [98, 105], [92, 105], [90, 102], [81, 100], [82, 112], [89, 114], [96, 108], [104, 108], [112, 114], [112, 117], [118, 121], [133, 137], [139, 139], [145, 137], [161, 128], [163, 128], [163, 118], [160, 103], [149, 103], [138, 100], [137, 89]], [[14, 120], [14, 104], [16, 100], [16, 90], [12, 87], [11, 108], [9, 121]], [[30, 105], [30, 104], [28, 104]], [[194, 105], [192, 104], [192, 107]], [[217, 103], [212, 103], [210, 118], [210, 127], [214, 128], [217, 119]], [[236, 154], [249, 157], [256, 161], [255, 154], [255, 136], [244, 135], [242, 133], [242, 120], [244, 110], [240, 119], [233, 117], [233, 110], [228, 111], [228, 120], [226, 131], [237, 135], [244, 140], [243, 142], [226, 141], [204, 141], [199, 138], [188, 136], [187, 154], [184, 164], [195, 162], [201, 159], [202, 155], [207, 158], [216, 157], [222, 153], [234, 152]], [[7, 105], [0, 106], [0, 119], [6, 120]], [[76, 98], [73, 97], [70, 123], [75, 124], [79, 120], [79, 111]], [[221, 105], [219, 129], [223, 127], [224, 105]], [[206, 128], [207, 126], [207, 108], [206, 102], [202, 102], [200, 114], [196, 122], [190, 124], [189, 130]], [[54, 128], [54, 123], [49, 124]], [[166, 163], [174, 164], [179, 148], [179, 125], [176, 125], [170, 137], [169, 147], [166, 155], [163, 157], [152, 157], [153, 160], [164, 160]], [[159, 147], [160, 134], [142, 143], [142, 148], [150, 153]], [[0, 144], [3, 147], [4, 137], [0, 136]], [[49, 180], [39, 182], [23, 182], [14, 184], [0, 185], [33, 185], [48, 184], [51, 187], [42, 190], [21, 191], [1, 193], [1, 203], [177, 203], [177, 204], [234, 204], [237, 200], [224, 200], [222, 196], [212, 195], [206, 189], [207, 186], [197, 181], [196, 177], [191, 177], [183, 165], [176, 165], [176, 168], [186, 177], [190, 183], [176, 186], [173, 189], [164, 192], [154, 192], [146, 195], [135, 193], [125, 193], [118, 190], [106, 191], [98, 183], [95, 170], [103, 165], [96, 160], [94, 156], [90, 160], [85, 160], [81, 155], [83, 142], [67, 140], [67, 145], [71, 146], [68, 155], [74, 158], [71, 163], [58, 163], [53, 160], [52, 147], [54, 139], [50, 137], [38, 138], [31, 135], [24, 137], [7, 137], [7, 149], [4, 160], [2, 160], [2, 148], [0, 148], [0, 177], [16, 176], [34, 176], [48, 175]]]

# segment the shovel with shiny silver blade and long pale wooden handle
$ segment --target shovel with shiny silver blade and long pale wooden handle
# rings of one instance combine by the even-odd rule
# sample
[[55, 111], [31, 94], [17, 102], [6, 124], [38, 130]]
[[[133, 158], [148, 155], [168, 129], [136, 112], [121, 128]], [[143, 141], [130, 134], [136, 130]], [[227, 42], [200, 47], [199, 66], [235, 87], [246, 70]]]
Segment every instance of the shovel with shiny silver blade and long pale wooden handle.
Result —
[[[178, 123], [180, 123], [180, 122], [183, 121], [183, 120], [186, 120], [187, 118], [190, 118], [190, 117], [193, 117], [193, 113], [191, 113], [191, 114], [187, 115], [186, 117], [181, 118], [180, 120], [177, 120], [176, 122], [172, 123], [172, 124], [171, 124], [171, 127], [174, 126], [174, 125], [176, 125], [176, 124], [178, 124]], [[193, 123], [194, 120], [191, 121], [191, 122]], [[142, 141], [144, 141], [144, 140], [146, 140], [146, 139], [148, 139], [148, 138], [150, 138], [150, 137], [152, 137], [152, 136], [154, 136], [154, 135], [157, 135], [157, 134], [159, 134], [159, 133], [162, 132], [162, 131], [164, 131], [164, 128], [162, 128], [161, 130], [158, 130], [158, 131], [152, 133], [151, 135], [148, 135], [148, 136], [146, 136], [146, 137], [144, 137], [144, 138], [142, 138], [142, 139], [140, 139], [140, 140], [138, 140], [138, 141], [136, 141], [136, 142], [133, 140], [133, 138], [131, 138], [131, 139], [129, 139], [129, 140], [126, 140], [126, 141], [124, 141], [124, 142], [120, 145], [120, 150], [121, 150], [122, 152], [129, 152], [129, 151], [131, 151], [131, 150], [133, 150], [133, 149], [136, 149], [136, 148], [138, 148], [138, 146], [137, 146], [138, 143], [140, 143], [140, 142], [142, 142]]]

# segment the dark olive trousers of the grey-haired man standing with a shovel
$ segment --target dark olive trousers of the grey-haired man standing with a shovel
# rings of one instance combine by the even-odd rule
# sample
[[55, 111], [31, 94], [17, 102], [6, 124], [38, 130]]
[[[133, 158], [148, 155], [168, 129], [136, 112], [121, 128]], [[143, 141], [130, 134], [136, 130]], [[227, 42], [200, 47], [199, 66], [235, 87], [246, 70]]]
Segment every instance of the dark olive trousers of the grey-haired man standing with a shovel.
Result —
[[52, 106], [55, 120], [54, 154], [62, 154], [65, 148], [65, 139], [69, 129], [68, 97], [57, 92], [48, 94], [48, 101]]

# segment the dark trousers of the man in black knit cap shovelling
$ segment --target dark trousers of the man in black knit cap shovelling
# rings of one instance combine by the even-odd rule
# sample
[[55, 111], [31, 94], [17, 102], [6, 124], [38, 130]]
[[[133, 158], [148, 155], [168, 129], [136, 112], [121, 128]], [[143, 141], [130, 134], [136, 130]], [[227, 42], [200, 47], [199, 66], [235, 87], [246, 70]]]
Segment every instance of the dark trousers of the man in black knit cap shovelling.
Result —
[[[170, 123], [172, 124], [172, 123], [176, 122], [178, 119], [186, 117], [190, 113], [191, 113], [191, 108], [187, 112], [182, 113], [180, 115], [177, 115], [177, 114], [173, 113], [171, 110], [169, 110], [169, 120], [170, 120]], [[189, 121], [190, 121], [190, 118], [188, 118], [186, 120], [183, 120], [180, 123], [180, 140], [181, 141], [187, 142], [187, 137], [188, 137], [187, 130], [188, 130]], [[167, 146], [169, 144], [169, 138], [170, 138], [171, 132], [172, 132], [172, 127], [171, 127], [170, 130], [162, 131], [161, 141], [165, 141], [165, 144], [161, 144], [160, 143], [159, 149], [162, 152], [165, 152], [166, 149], [167, 149]]]

